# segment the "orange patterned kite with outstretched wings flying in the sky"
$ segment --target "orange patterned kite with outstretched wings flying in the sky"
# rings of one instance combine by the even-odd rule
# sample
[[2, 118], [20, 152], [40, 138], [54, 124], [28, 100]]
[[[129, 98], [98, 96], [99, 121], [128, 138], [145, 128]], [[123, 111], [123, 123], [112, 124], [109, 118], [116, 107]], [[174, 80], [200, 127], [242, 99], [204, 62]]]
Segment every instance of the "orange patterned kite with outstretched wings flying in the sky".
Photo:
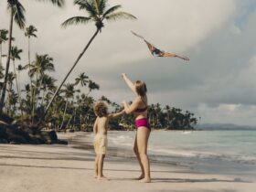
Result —
[[133, 31], [131, 32], [133, 33], [134, 36], [140, 37], [144, 40], [144, 42], [146, 43], [147, 47], [149, 48], [153, 56], [162, 57], [162, 58], [179, 58], [179, 59], [189, 60], [186, 56], [179, 56], [179, 55], [176, 55], [175, 53], [167, 53], [163, 50], [160, 50], [159, 48], [155, 48], [155, 46], [153, 46], [151, 43], [146, 41], [144, 37], [134, 33]]

